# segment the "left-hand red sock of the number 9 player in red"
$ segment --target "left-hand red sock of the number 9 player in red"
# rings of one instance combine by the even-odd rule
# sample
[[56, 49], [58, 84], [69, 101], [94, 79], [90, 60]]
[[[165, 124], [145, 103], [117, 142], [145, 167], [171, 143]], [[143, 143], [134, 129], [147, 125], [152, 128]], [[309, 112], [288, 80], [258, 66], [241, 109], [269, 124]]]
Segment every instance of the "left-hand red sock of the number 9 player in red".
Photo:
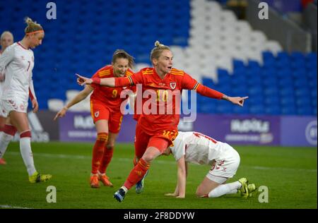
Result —
[[97, 174], [104, 153], [104, 147], [107, 143], [108, 134], [98, 133], [95, 145], [93, 147], [92, 174]]

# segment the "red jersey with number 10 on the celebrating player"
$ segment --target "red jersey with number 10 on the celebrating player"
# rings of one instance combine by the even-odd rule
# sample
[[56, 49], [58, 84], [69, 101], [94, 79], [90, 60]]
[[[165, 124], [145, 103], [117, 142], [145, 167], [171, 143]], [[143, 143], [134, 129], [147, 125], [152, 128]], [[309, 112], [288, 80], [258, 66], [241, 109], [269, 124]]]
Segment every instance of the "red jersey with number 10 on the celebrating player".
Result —
[[[163, 79], [154, 68], [143, 68], [128, 78], [131, 85], [142, 85], [142, 90], [137, 86], [135, 109], [137, 114], [142, 113], [139, 123], [143, 129], [148, 132], [177, 131], [182, 89], [196, 90], [199, 83], [175, 68]], [[141, 98], [142, 102], [139, 102]]]

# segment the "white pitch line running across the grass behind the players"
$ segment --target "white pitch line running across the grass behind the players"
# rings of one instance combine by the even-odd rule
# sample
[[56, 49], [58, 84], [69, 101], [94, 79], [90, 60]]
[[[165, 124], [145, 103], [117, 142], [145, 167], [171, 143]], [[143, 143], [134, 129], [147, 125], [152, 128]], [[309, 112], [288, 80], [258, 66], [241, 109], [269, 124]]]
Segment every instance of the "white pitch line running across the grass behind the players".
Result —
[[[20, 155], [20, 152], [6, 152], [7, 155]], [[65, 155], [65, 154], [50, 154], [50, 153], [35, 153], [36, 157], [47, 157], [47, 158], [60, 158], [60, 159], [91, 159], [91, 156], [83, 156], [83, 155]], [[113, 158], [118, 159], [119, 161], [124, 162], [132, 162], [132, 158]], [[160, 164], [176, 164], [174, 161], [164, 161], [164, 160], [156, 160]], [[244, 166], [245, 168], [252, 169], [261, 169], [261, 170], [287, 170], [287, 171], [310, 171], [317, 172], [317, 169], [295, 169], [295, 168], [285, 168], [285, 167], [259, 167], [259, 166]]]

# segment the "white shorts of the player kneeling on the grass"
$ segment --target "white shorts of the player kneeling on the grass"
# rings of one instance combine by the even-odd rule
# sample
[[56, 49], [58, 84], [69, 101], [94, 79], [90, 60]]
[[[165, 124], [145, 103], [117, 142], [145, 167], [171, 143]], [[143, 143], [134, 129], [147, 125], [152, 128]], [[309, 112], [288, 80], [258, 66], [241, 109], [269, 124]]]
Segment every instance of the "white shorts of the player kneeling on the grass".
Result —
[[[228, 144], [226, 144], [228, 145]], [[230, 145], [228, 152], [220, 159], [215, 159], [213, 165], [206, 174], [206, 177], [216, 183], [224, 183], [228, 178], [232, 178], [240, 166], [240, 155]]]

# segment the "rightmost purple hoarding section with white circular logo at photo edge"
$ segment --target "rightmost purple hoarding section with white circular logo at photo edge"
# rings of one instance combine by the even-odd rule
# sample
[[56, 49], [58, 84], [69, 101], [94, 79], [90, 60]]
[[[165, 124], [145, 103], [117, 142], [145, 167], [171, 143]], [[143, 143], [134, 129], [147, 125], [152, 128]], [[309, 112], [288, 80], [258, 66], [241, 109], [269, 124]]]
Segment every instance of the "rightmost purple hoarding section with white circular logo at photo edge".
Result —
[[317, 146], [317, 117], [282, 116], [281, 145]]

